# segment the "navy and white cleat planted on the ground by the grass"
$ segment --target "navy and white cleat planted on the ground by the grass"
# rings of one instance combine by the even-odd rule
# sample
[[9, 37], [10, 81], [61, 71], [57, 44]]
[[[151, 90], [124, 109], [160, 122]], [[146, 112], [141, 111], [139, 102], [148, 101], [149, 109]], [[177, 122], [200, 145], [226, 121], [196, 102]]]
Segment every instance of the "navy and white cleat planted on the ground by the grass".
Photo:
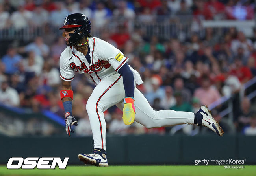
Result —
[[79, 154], [78, 159], [85, 163], [85, 165], [91, 164], [95, 166], [108, 166], [108, 159], [104, 152], [95, 152], [94, 150], [93, 154]]

